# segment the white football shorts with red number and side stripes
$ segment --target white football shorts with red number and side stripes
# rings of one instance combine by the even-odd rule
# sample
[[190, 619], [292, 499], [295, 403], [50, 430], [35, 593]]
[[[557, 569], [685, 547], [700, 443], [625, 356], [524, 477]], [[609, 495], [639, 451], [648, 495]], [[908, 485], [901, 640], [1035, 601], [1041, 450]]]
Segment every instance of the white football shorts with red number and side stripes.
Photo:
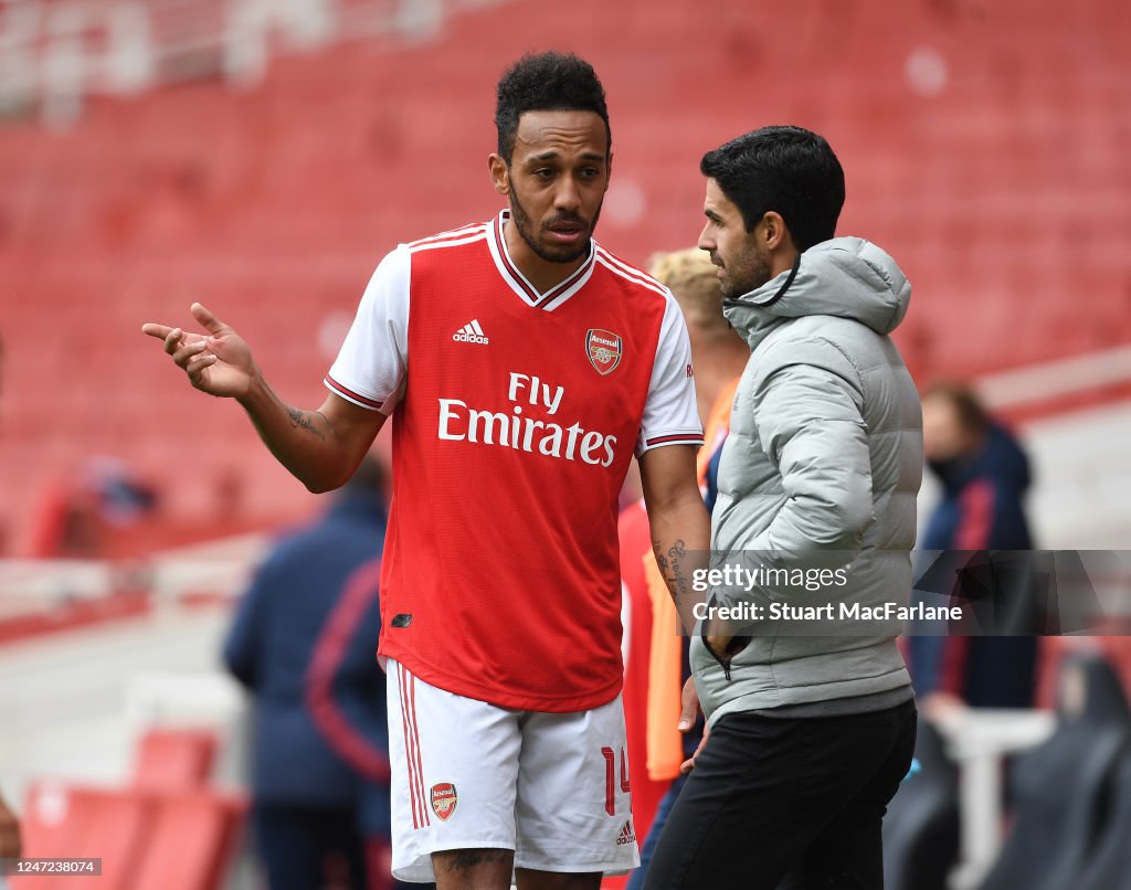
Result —
[[499, 708], [387, 664], [392, 874], [429, 882], [432, 854], [515, 850], [515, 866], [623, 874], [640, 864], [624, 711]]

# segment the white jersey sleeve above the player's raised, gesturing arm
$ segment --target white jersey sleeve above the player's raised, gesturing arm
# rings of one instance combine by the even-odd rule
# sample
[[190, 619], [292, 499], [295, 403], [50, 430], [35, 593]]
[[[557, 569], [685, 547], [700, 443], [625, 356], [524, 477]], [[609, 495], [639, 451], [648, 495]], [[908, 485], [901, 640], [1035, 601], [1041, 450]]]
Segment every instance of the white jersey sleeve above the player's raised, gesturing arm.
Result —
[[404, 391], [409, 277], [408, 248], [402, 244], [381, 260], [370, 278], [325, 381], [331, 392], [382, 414], [392, 413]]

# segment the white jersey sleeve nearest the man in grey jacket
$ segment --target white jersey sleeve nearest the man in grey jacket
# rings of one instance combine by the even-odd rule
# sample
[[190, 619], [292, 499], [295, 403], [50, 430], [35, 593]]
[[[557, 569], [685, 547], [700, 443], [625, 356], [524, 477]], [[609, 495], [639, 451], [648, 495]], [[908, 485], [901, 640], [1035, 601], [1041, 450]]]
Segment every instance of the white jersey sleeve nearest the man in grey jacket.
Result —
[[696, 406], [691, 372], [691, 340], [680, 305], [668, 293], [636, 453], [639, 457], [649, 449], [666, 444], [702, 443], [703, 427]]

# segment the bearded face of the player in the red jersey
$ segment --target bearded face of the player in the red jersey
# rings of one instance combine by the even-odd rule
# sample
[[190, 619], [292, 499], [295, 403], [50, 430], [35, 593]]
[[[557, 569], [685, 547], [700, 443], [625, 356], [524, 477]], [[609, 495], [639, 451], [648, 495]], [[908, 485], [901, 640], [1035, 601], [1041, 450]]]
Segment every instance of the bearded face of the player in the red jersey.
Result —
[[605, 122], [592, 111], [525, 112], [510, 164], [492, 156], [495, 188], [523, 241], [547, 262], [588, 253], [610, 169]]

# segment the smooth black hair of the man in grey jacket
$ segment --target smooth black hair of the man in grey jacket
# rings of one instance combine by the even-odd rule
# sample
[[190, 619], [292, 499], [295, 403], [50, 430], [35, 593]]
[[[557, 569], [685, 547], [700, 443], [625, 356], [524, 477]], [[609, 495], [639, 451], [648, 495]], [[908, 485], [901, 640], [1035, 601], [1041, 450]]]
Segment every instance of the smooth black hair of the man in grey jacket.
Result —
[[762, 127], [708, 152], [699, 170], [737, 206], [748, 232], [776, 210], [797, 250], [836, 234], [845, 173], [829, 144], [814, 132]]

